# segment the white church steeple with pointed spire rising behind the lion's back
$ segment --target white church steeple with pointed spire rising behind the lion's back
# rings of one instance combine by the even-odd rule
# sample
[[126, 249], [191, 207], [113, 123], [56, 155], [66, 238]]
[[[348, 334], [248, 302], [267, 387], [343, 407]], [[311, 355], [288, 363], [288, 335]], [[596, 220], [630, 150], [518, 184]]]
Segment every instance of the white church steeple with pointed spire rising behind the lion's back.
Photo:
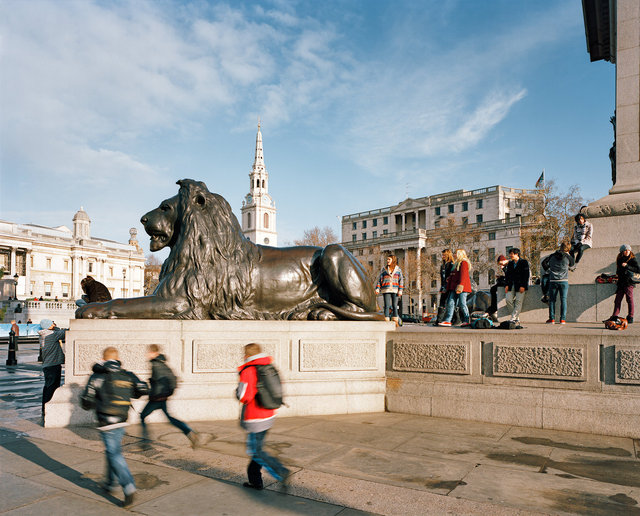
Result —
[[269, 195], [269, 174], [264, 165], [262, 133], [258, 123], [256, 152], [249, 174], [249, 193], [242, 201], [242, 232], [254, 244], [278, 245], [276, 205]]

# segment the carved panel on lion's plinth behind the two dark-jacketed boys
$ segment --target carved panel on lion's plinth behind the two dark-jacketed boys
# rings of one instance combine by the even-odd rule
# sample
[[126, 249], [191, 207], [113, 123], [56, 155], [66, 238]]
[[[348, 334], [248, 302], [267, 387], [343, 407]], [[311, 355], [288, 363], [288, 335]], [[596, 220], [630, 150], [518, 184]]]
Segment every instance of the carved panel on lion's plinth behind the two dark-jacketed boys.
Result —
[[168, 342], [158, 339], [130, 339], [124, 344], [113, 341], [75, 340], [73, 341], [74, 376], [90, 375], [93, 364], [102, 360], [105, 348], [113, 346], [118, 350], [122, 367], [134, 373], [146, 373], [151, 370], [147, 360], [147, 346], [157, 344], [166, 349]]

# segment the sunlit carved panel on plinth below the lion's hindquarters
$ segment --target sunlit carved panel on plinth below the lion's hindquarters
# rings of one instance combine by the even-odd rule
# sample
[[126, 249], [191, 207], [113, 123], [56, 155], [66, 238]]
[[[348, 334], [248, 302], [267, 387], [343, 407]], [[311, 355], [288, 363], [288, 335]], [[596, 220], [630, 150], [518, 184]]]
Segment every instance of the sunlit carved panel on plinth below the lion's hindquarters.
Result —
[[376, 340], [300, 339], [300, 371], [375, 371]]

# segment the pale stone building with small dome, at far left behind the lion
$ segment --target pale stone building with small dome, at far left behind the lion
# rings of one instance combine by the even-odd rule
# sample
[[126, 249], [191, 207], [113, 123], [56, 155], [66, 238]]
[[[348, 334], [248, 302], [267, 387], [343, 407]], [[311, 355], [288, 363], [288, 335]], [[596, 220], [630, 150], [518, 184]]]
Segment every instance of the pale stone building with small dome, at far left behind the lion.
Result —
[[73, 217], [73, 230], [0, 221], [0, 267], [5, 278], [18, 275], [18, 299], [73, 301], [83, 294], [85, 276], [104, 283], [114, 298], [142, 296], [145, 257], [136, 235], [130, 229], [126, 244], [92, 237], [91, 219], [82, 208]]

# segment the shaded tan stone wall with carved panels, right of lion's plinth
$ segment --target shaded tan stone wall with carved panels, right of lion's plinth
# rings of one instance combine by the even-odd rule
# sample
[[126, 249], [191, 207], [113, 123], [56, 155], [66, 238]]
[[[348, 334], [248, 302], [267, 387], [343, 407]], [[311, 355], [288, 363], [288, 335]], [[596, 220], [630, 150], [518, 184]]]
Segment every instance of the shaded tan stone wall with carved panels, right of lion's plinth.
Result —
[[640, 437], [640, 328], [389, 334], [387, 410]]

